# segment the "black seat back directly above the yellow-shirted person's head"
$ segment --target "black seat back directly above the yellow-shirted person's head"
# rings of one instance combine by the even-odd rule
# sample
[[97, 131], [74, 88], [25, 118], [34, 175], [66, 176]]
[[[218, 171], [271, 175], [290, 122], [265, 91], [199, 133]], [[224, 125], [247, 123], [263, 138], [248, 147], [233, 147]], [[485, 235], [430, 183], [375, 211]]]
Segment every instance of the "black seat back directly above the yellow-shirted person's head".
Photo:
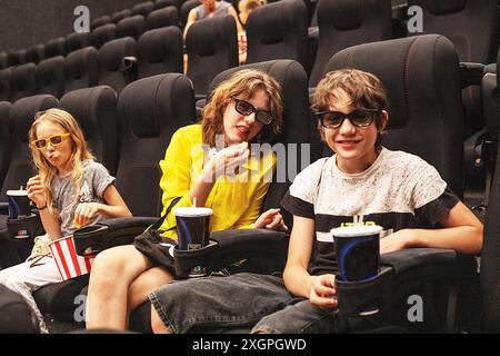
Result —
[[278, 1], [256, 8], [247, 20], [247, 63], [308, 60], [308, 9], [302, 0]]

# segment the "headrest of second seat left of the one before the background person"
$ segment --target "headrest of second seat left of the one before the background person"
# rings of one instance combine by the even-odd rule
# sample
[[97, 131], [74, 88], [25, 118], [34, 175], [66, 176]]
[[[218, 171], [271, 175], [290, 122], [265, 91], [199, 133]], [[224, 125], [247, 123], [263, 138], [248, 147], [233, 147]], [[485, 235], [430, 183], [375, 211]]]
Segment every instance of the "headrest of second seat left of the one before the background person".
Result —
[[123, 57], [137, 57], [137, 42], [131, 37], [119, 38], [104, 43], [99, 50], [99, 66], [102, 71], [117, 71], [120, 69]]

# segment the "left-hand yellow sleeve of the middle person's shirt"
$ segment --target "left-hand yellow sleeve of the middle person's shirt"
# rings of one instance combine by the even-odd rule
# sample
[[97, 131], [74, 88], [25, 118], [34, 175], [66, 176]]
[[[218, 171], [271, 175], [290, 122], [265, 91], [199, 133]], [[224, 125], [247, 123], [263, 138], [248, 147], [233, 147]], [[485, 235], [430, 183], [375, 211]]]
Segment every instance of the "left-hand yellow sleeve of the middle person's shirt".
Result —
[[[189, 198], [189, 189], [191, 182], [191, 146], [188, 132], [178, 130], [173, 134], [164, 159], [160, 161], [162, 176], [160, 179], [160, 188], [162, 190], [161, 202], [163, 209], [161, 216], [164, 215], [167, 208], [173, 199], [180, 197], [181, 199], [176, 204], [176, 207], [191, 206]], [[173, 210], [173, 209], [172, 209]], [[166, 218], [160, 227], [160, 230], [176, 226], [176, 217], [172, 212]], [[174, 231], [167, 234], [169, 237], [176, 237]]]

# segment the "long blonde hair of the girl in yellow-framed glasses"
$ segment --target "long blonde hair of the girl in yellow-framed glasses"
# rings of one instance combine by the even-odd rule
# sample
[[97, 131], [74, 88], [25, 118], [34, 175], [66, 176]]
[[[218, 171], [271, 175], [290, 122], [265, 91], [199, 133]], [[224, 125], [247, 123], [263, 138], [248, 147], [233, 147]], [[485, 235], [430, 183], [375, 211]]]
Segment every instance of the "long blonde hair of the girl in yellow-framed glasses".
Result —
[[57, 175], [57, 168], [53, 167], [47, 158], [43, 156], [43, 154], [32, 147], [31, 142], [37, 140], [37, 127], [42, 121], [48, 121], [51, 123], [59, 125], [64, 129], [67, 134], [70, 134], [70, 137], [68, 139], [71, 140], [71, 156], [70, 156], [70, 165], [72, 168], [71, 172], [71, 184], [73, 185], [77, 195], [76, 199], [80, 196], [80, 184], [81, 179], [83, 177], [83, 167], [81, 162], [83, 160], [94, 160], [93, 155], [90, 152], [90, 150], [87, 147], [86, 139], [83, 137], [83, 132], [78, 125], [77, 120], [71, 116], [71, 113], [61, 110], [61, 109], [49, 109], [47, 111], [42, 111], [37, 113], [36, 119], [33, 123], [31, 125], [31, 128], [28, 132], [28, 138], [30, 142], [30, 149], [31, 155], [33, 158], [33, 162], [38, 168], [41, 184], [43, 187], [46, 187], [46, 201], [47, 207], [50, 211], [53, 209], [53, 192], [51, 189], [51, 184], [53, 178]]

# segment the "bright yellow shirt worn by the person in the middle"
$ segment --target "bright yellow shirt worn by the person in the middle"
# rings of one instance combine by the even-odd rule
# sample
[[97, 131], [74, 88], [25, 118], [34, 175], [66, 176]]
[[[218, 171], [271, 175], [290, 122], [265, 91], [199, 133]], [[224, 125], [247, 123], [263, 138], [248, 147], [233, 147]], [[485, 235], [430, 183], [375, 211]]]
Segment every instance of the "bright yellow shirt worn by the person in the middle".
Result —
[[[161, 215], [164, 215], [174, 198], [181, 197], [181, 199], [169, 212], [160, 230], [176, 226], [172, 211], [177, 207], [192, 206], [189, 190], [196, 184], [203, 169], [203, 161], [207, 160], [208, 154], [207, 149], [203, 150], [201, 125], [190, 125], [173, 134], [164, 159], [160, 161], [163, 172], [160, 180], [160, 188], [163, 191]], [[274, 167], [276, 157], [269, 151], [261, 155], [260, 159], [251, 157], [248, 164], [243, 165], [246, 169], [234, 177], [236, 181], [219, 178], [204, 205], [213, 209], [210, 230], [252, 228], [260, 215]], [[177, 231], [167, 231], [163, 236], [177, 239]]]

